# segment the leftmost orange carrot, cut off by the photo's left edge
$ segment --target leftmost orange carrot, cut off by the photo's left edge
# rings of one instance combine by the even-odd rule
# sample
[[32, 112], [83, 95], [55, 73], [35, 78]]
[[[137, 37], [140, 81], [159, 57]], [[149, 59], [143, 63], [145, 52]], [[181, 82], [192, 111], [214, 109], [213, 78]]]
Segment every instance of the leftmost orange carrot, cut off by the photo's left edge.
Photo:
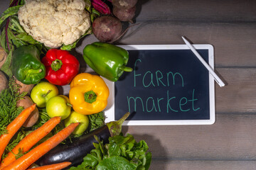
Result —
[[23, 123], [26, 121], [28, 116], [35, 110], [36, 104], [33, 104], [32, 106], [25, 108], [21, 113], [6, 127], [7, 133], [0, 136], [0, 157], [4, 153], [4, 149], [6, 149], [6, 146], [11, 140], [11, 137], [13, 137], [16, 132], [21, 128]]

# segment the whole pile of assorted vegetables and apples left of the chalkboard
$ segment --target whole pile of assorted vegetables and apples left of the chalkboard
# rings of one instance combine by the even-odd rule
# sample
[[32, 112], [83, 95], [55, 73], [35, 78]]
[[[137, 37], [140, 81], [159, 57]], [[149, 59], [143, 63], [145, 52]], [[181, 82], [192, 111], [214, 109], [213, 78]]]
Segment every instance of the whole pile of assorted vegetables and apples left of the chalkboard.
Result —
[[[132, 72], [127, 50], [111, 43], [133, 23], [136, 4], [11, 0], [0, 16], [0, 170], [149, 169], [146, 142], [122, 135], [129, 113], [105, 123], [110, 90], [102, 78]], [[88, 34], [99, 42], [72, 55]], [[81, 72], [81, 60], [93, 74]]]

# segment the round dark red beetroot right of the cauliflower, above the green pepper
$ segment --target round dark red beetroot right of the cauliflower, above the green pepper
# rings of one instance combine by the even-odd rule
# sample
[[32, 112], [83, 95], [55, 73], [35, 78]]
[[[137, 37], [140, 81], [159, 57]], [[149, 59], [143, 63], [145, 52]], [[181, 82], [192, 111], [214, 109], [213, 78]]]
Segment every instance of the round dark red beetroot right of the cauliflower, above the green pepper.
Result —
[[92, 32], [102, 42], [113, 42], [122, 33], [122, 23], [114, 16], [100, 16], [93, 21]]

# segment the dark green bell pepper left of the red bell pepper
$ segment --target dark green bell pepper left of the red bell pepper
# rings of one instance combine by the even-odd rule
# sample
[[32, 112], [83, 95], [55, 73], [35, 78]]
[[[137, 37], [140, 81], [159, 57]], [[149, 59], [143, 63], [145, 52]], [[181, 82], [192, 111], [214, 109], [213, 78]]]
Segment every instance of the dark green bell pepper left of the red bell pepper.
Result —
[[46, 76], [46, 67], [35, 45], [22, 45], [14, 50], [11, 72], [23, 84], [37, 84]]

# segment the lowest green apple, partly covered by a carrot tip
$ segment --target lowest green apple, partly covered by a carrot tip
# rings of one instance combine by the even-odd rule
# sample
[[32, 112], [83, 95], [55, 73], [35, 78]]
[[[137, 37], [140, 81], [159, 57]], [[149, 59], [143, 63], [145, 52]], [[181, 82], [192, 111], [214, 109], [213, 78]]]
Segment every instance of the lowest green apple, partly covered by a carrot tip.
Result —
[[68, 118], [64, 120], [65, 122], [65, 127], [70, 125], [71, 123], [80, 123], [77, 128], [73, 131], [73, 134], [75, 135], [80, 135], [85, 130], [87, 130], [88, 125], [89, 125], [89, 118], [87, 115], [82, 115], [80, 113], [77, 113], [75, 111], [72, 111]]

